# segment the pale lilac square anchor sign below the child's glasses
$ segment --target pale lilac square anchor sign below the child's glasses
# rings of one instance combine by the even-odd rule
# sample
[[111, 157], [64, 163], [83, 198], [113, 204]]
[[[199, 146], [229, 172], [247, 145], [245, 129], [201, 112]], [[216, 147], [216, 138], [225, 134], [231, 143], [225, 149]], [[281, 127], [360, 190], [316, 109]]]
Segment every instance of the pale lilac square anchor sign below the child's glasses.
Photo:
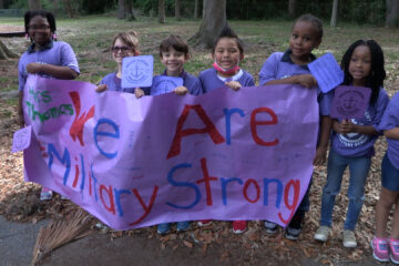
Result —
[[152, 55], [127, 57], [122, 61], [122, 88], [151, 86], [154, 70]]

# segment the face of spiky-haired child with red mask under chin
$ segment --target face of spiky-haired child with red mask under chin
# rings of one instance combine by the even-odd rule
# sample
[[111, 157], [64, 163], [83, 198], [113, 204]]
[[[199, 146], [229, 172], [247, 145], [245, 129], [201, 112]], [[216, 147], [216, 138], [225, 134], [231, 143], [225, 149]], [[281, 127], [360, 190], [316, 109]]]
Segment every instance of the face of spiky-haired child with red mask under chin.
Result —
[[222, 38], [218, 40], [212, 58], [225, 70], [236, 66], [244, 54], [239, 52], [237, 41], [234, 38]]

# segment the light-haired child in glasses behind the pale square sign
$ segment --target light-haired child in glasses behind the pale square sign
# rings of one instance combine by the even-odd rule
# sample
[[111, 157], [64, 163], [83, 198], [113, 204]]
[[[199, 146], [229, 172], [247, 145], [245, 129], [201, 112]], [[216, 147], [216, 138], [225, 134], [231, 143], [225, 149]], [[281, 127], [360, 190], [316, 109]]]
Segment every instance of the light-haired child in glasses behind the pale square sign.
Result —
[[[95, 89], [96, 92], [105, 90], [120, 91], [133, 93], [134, 88], [122, 88], [122, 61], [125, 57], [139, 55], [139, 38], [135, 31], [121, 32], [112, 41], [112, 58], [117, 63], [117, 71], [109, 73], [101, 81], [100, 85]], [[144, 89], [146, 92], [149, 88]]]

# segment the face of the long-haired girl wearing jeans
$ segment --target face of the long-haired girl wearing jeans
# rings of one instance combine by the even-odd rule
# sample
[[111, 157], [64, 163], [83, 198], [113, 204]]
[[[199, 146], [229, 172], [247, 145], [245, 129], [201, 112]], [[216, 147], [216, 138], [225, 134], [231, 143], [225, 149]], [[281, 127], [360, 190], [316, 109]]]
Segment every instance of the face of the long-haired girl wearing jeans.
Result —
[[349, 74], [354, 78], [354, 85], [364, 85], [371, 71], [371, 53], [367, 45], [355, 48], [349, 62]]

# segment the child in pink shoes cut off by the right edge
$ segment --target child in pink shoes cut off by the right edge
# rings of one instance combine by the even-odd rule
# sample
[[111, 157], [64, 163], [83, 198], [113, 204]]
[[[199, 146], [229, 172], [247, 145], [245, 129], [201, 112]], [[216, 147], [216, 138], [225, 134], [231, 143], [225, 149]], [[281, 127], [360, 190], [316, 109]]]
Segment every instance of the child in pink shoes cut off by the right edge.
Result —
[[[387, 137], [388, 150], [381, 164], [382, 187], [376, 207], [377, 229], [371, 241], [372, 255], [379, 262], [389, 262], [390, 253], [392, 263], [399, 264], [399, 92], [388, 104], [378, 129]], [[392, 231], [388, 239], [387, 222], [393, 204]]]

